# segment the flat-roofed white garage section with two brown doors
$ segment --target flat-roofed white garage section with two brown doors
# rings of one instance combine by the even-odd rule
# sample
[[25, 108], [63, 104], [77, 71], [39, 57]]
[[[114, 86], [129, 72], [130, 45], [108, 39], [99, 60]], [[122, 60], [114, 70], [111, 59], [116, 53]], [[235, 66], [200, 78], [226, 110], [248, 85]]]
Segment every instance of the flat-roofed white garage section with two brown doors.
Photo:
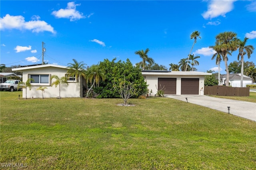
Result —
[[212, 73], [143, 70], [142, 75], [149, 91], [152, 90], [150, 95], [155, 95], [161, 87], [164, 87], [164, 95], [204, 95], [204, 76]]

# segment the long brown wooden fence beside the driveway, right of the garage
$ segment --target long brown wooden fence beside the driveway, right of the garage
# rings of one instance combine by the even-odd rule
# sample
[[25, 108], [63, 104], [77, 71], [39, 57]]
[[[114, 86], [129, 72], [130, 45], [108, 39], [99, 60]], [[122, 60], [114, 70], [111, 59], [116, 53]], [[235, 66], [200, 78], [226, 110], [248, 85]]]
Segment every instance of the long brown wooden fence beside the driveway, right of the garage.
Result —
[[249, 87], [204, 86], [204, 95], [249, 96]]

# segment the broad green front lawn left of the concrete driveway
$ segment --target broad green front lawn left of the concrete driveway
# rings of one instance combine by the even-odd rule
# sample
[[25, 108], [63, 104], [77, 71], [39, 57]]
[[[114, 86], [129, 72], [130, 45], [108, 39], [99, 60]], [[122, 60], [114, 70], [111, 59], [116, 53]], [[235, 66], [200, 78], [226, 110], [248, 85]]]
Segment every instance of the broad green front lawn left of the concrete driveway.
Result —
[[1, 168], [256, 169], [248, 119], [170, 98], [122, 107], [122, 99], [18, 100], [21, 93], [0, 92]]

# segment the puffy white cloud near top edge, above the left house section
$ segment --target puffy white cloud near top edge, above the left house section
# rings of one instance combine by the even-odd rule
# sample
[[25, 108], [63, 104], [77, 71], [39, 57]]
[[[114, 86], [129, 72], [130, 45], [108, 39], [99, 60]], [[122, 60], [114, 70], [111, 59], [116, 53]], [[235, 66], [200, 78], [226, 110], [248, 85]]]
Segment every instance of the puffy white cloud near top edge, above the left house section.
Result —
[[[53, 11], [52, 15], [57, 18], [69, 18], [70, 21], [80, 20], [81, 18], [86, 18], [83, 16], [82, 12], [76, 10], [76, 6], [80, 6], [81, 4], [75, 4], [75, 2], [68, 2], [68, 6], [66, 9], [60, 9], [58, 11]], [[89, 18], [92, 14], [88, 15]]]

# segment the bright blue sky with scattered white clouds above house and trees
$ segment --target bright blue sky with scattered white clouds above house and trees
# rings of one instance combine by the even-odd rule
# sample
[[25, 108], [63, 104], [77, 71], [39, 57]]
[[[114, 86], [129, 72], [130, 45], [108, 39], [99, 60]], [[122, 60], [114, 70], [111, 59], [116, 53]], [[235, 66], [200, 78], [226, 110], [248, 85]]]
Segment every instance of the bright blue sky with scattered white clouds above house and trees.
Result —
[[[231, 31], [256, 47], [256, 1], [0, 1], [0, 63], [67, 65], [72, 59], [88, 66], [104, 59], [135, 64], [137, 50], [149, 48], [149, 57], [169, 69], [188, 57], [193, 39], [200, 32], [192, 53], [199, 55], [198, 71], [218, 72], [214, 53], [215, 36]], [[228, 56], [237, 61], [238, 52]], [[256, 63], [256, 51], [245, 61]], [[224, 62], [221, 73], [226, 73]]]

